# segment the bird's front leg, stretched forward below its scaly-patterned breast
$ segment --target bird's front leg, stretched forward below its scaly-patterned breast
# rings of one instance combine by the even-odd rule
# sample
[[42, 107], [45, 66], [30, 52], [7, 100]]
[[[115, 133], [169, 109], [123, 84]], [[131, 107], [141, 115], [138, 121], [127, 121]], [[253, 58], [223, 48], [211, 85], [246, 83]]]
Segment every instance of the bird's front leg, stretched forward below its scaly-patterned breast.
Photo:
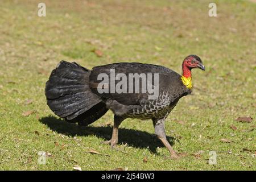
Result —
[[155, 134], [156, 136], [162, 141], [164, 146], [170, 151], [171, 158], [177, 159], [179, 156], [176, 154], [175, 150], [172, 148], [171, 144], [166, 139], [166, 131], [164, 130], [164, 122], [165, 118], [163, 119], [152, 119], [153, 125], [155, 127]]

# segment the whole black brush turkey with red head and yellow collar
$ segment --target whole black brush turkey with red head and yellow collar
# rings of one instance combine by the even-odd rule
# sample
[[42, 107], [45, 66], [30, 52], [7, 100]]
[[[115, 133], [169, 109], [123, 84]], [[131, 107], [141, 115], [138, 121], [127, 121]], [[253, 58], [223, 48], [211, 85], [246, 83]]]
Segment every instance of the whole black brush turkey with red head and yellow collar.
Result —
[[[166, 139], [164, 121], [179, 99], [192, 92], [191, 69], [205, 70], [200, 57], [196, 55], [185, 57], [182, 68], [182, 76], [160, 65], [141, 63], [101, 65], [90, 71], [77, 63], [61, 61], [46, 82], [47, 105], [65, 121], [77, 122], [83, 126], [101, 118], [109, 109], [112, 110], [114, 113], [112, 139], [105, 142], [110, 143], [111, 147], [118, 143], [118, 126], [124, 119], [152, 119], [156, 136], [168, 148], [171, 157], [177, 158], [176, 152]], [[124, 92], [112, 90], [112, 84], [117, 86], [119, 81], [125, 81], [125, 76], [129, 78], [130, 74], [136, 73], [137, 76], [148, 76], [150, 73], [158, 80], [153, 81], [151, 77], [150, 82], [139, 77], [139, 88], [136, 88], [136, 80], [133, 77], [129, 82], [134, 84], [131, 90], [129, 90], [130, 85], [120, 86], [120, 83], [119, 88]], [[122, 80], [121, 77], [117, 78], [118, 75]], [[104, 84], [102, 84], [103, 78], [105, 78]], [[151, 88], [158, 89], [158, 95], [155, 98], [150, 98], [152, 93], [148, 90], [142, 91], [145, 89], [145, 84], [143, 85], [145, 82], [147, 82], [146, 86], [150, 85]], [[105, 91], [102, 92], [102, 90]]]

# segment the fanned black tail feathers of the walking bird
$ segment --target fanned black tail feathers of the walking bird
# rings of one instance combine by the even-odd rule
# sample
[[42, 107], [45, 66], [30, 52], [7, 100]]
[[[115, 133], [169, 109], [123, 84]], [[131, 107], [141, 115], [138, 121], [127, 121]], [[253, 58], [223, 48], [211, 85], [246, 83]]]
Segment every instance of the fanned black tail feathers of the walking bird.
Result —
[[61, 61], [46, 82], [49, 108], [68, 122], [89, 125], [108, 111], [89, 87], [90, 70], [77, 63]]

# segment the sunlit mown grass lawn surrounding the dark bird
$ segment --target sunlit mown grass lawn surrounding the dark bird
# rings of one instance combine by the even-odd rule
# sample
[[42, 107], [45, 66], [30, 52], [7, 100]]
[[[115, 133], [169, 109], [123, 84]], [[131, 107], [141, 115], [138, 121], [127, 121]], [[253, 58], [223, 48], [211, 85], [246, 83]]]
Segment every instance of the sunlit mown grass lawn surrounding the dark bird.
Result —
[[[0, 169], [256, 169], [255, 2], [215, 1], [217, 17], [203, 0], [44, 0], [46, 17], [38, 16], [39, 2], [0, 2]], [[137, 61], [181, 73], [190, 54], [206, 71], [192, 71], [193, 94], [166, 121], [179, 160], [169, 158], [150, 120], [126, 119], [111, 150], [101, 144], [112, 135], [111, 111], [80, 127], [46, 105], [45, 83], [60, 60], [89, 69]], [[209, 164], [210, 151], [217, 164]]]

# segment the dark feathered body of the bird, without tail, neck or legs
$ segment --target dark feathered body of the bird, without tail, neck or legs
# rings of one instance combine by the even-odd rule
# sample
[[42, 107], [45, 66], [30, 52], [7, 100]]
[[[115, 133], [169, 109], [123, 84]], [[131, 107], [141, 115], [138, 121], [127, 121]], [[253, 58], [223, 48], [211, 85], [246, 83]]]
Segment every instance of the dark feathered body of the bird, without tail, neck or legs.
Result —
[[[158, 74], [158, 85], [152, 81], [152, 85], [158, 86], [158, 96], [155, 99], [148, 99], [149, 93], [98, 93], [97, 84], [101, 82], [98, 80], [98, 75], [105, 73], [109, 76], [110, 88], [110, 75], [123, 73], [127, 77], [129, 74], [141, 75], [148, 73], [154, 75]], [[142, 63], [115, 63], [94, 67], [90, 74], [91, 89], [101, 98], [109, 101], [112, 110], [122, 110], [120, 113], [126, 114], [129, 117], [136, 118], [152, 118], [154, 114], [164, 114], [171, 110], [179, 100], [179, 98], [189, 94], [188, 90], [181, 81], [181, 76], [169, 68]], [[115, 84], [118, 81], [115, 81]], [[142, 87], [142, 84], [139, 85]], [[142, 88], [140, 88], [141, 90]], [[128, 91], [128, 88], [127, 88]], [[127, 107], [125, 107], [127, 106]], [[124, 109], [126, 108], [126, 109]]]

